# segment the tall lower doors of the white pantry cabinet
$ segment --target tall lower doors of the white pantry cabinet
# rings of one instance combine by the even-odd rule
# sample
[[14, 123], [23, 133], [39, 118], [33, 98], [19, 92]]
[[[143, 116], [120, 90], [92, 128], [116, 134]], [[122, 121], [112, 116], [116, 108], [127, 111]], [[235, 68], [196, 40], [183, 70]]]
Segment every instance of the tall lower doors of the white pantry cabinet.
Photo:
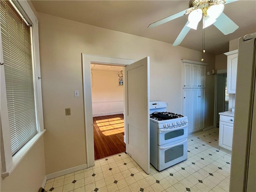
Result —
[[204, 128], [204, 89], [183, 89], [183, 115], [188, 117], [188, 133]]

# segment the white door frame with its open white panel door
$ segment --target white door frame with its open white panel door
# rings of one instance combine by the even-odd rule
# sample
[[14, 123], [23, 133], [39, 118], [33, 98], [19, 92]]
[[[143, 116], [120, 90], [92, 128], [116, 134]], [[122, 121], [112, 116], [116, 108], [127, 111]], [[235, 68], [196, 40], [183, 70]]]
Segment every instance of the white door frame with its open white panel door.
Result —
[[149, 162], [149, 61], [82, 54], [84, 120], [87, 167], [94, 166], [94, 138], [92, 120], [92, 62], [124, 66], [124, 142], [126, 153], [147, 173]]

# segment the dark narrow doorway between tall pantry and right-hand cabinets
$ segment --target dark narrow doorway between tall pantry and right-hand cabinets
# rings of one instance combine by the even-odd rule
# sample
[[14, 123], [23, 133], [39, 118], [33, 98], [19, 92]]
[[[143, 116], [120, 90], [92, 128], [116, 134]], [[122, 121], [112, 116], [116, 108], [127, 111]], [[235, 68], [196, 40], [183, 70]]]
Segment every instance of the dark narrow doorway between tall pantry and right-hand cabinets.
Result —
[[227, 73], [216, 74], [216, 127], [219, 127], [219, 112], [228, 111]]

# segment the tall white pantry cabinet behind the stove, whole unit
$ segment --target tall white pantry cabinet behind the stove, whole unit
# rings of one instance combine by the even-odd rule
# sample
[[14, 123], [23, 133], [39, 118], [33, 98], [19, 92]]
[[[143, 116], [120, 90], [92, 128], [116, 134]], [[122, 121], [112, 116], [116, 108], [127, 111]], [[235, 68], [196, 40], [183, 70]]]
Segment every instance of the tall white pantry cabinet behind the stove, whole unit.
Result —
[[204, 128], [206, 63], [183, 62], [183, 115], [188, 117], [188, 133]]

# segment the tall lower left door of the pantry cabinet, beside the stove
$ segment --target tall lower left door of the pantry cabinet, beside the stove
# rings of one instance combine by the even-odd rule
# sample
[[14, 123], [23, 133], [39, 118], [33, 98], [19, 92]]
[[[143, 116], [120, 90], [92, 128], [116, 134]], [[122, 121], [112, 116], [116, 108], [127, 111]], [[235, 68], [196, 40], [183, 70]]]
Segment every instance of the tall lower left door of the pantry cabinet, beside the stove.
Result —
[[191, 124], [191, 89], [183, 89], [183, 112], [188, 117], [188, 132], [192, 132]]

